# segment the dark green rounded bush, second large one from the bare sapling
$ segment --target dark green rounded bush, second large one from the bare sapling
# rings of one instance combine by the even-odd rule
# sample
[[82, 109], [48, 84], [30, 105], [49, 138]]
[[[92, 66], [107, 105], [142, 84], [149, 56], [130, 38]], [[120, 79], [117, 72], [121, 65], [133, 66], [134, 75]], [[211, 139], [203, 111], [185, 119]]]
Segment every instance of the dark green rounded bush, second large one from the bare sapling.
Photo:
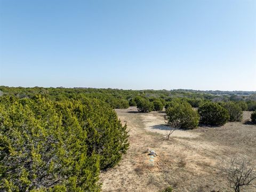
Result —
[[219, 103], [205, 102], [199, 106], [200, 123], [206, 125], [219, 126], [224, 125], [228, 119], [228, 110]]

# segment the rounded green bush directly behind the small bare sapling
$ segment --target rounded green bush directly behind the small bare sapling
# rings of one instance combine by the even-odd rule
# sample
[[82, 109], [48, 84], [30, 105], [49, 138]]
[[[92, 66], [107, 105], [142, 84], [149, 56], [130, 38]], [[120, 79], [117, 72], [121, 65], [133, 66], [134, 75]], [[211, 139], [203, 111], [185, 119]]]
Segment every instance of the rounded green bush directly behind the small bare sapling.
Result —
[[199, 115], [189, 103], [174, 103], [166, 109], [166, 119], [174, 128], [194, 129], [198, 125]]

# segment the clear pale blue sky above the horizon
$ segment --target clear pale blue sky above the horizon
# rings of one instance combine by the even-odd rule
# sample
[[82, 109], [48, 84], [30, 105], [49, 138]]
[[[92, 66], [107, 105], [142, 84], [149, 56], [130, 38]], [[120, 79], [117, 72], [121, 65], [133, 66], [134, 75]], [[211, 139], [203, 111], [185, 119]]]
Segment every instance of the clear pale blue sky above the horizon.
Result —
[[0, 85], [256, 90], [256, 1], [0, 0]]

